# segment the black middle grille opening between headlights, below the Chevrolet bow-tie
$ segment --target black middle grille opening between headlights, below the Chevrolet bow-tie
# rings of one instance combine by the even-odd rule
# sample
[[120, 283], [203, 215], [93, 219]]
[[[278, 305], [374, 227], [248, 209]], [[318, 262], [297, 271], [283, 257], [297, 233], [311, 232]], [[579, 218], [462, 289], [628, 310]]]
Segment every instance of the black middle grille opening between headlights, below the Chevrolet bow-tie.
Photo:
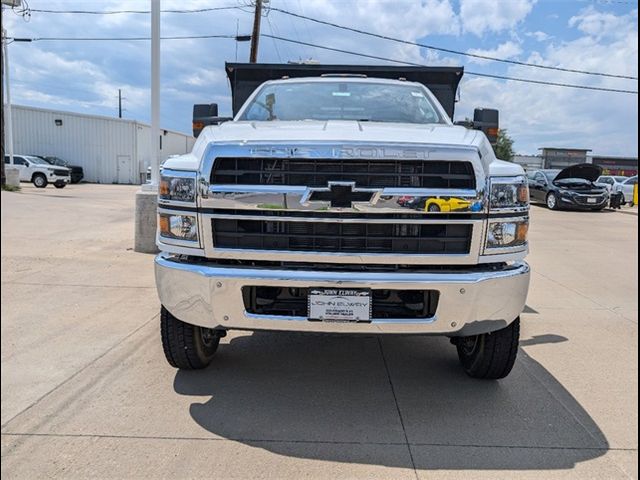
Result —
[[398, 254], [468, 254], [472, 226], [212, 219], [218, 248]]

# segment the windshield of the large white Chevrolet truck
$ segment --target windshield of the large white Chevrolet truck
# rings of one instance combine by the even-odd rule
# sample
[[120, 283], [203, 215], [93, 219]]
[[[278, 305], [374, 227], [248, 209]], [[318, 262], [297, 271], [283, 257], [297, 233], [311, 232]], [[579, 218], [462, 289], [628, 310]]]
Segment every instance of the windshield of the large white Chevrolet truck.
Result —
[[239, 119], [445, 123], [421, 86], [338, 80], [265, 85]]

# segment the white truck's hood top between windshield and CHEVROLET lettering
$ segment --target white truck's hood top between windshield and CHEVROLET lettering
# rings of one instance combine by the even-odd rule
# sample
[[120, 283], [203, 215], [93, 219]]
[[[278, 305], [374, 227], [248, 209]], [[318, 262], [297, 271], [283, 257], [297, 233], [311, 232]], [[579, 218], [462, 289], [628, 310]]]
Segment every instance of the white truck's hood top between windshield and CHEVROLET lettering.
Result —
[[358, 122], [351, 120], [297, 122], [227, 122], [213, 127], [216, 142], [368, 142], [474, 145], [477, 131], [454, 125]]

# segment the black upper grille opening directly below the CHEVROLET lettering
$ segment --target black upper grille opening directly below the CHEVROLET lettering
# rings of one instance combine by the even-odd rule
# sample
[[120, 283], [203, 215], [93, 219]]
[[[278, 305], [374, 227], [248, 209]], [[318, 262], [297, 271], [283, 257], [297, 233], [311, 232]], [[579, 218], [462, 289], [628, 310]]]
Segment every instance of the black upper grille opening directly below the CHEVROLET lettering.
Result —
[[349, 181], [365, 188], [475, 189], [470, 162], [306, 158], [217, 158], [212, 184], [326, 187]]

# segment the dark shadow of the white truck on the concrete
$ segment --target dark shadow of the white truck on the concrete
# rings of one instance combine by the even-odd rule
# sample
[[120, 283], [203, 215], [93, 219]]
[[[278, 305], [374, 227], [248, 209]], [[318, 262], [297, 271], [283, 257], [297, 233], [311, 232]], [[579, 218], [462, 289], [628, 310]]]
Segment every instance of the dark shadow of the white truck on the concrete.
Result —
[[[565, 341], [542, 335], [522, 345]], [[479, 381], [438, 337], [255, 332], [221, 345], [208, 369], [179, 371], [174, 388], [210, 397], [190, 406], [202, 428], [296, 458], [545, 470], [608, 448], [588, 413], [524, 350], [507, 379]]]

